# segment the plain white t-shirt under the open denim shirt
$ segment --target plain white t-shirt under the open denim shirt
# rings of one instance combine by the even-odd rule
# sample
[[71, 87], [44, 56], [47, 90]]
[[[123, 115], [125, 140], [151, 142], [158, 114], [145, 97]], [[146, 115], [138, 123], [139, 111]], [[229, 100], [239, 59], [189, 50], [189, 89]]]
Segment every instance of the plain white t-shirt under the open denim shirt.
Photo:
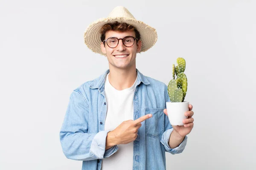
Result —
[[[109, 82], [108, 75], [105, 81], [105, 96], [107, 100], [107, 115], [105, 130], [114, 130], [126, 120], [134, 120], [133, 98], [137, 79], [130, 88], [116, 90]], [[119, 150], [112, 156], [102, 160], [102, 170], [132, 170], [133, 142], [119, 144]]]

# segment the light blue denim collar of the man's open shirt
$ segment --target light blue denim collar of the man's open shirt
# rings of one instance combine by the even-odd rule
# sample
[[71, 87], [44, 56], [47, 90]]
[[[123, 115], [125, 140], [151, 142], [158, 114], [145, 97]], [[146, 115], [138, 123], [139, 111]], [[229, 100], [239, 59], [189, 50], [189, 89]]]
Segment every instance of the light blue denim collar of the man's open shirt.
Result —
[[[143, 82], [143, 84], [145, 85], [149, 85], [150, 83], [148, 82], [148, 79], [142, 74], [140, 73], [140, 71], [136, 68], [137, 71], [137, 85], [139, 85], [141, 82]], [[109, 73], [109, 69], [107, 71], [105, 71], [104, 74], [100, 75], [98, 78], [94, 79], [92, 84], [90, 85], [90, 88], [99, 88], [101, 89], [105, 83], [107, 74]], [[136, 86], [137, 86], [136, 85]]]

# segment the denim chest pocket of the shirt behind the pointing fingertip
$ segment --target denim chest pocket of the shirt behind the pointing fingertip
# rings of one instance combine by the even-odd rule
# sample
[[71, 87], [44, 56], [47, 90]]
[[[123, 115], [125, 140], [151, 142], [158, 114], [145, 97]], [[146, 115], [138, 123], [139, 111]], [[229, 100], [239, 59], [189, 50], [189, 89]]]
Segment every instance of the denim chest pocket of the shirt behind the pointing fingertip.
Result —
[[146, 114], [152, 114], [152, 117], [145, 120], [146, 136], [157, 138], [163, 134], [165, 108], [145, 108]]

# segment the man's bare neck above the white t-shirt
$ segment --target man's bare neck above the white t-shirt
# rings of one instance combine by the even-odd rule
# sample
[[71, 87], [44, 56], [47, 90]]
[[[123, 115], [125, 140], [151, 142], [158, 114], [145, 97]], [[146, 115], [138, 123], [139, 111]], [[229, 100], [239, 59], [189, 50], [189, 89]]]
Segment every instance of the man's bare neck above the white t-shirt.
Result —
[[136, 78], [137, 78], [137, 72], [136, 72], [136, 67], [135, 68], [130, 68], [126, 70], [122, 69], [109, 69], [109, 77], [108, 80], [110, 84], [116, 89], [116, 90], [123, 90], [126, 88], [130, 88]]

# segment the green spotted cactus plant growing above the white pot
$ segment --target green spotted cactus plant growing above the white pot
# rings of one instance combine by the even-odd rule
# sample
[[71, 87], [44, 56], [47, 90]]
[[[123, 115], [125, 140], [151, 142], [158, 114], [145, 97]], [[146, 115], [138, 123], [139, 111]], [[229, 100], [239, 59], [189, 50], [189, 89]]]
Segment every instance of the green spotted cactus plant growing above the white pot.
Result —
[[[187, 91], [187, 78], [184, 74], [186, 68], [185, 59], [177, 58], [177, 66], [172, 65], [172, 80], [168, 84], [168, 94], [171, 102], [184, 102]], [[175, 79], [175, 74], [177, 79]]]

